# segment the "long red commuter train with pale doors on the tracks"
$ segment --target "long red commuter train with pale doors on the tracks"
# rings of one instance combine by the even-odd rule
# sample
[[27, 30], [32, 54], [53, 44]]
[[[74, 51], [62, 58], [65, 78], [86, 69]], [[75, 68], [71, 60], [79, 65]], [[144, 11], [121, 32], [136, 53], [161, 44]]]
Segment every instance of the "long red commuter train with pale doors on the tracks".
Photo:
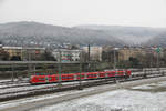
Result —
[[105, 78], [128, 78], [131, 77], [129, 70], [123, 71], [100, 71], [100, 72], [82, 72], [80, 73], [68, 73], [68, 74], [48, 74], [48, 75], [31, 75], [30, 83], [31, 84], [40, 84], [40, 83], [54, 83], [66, 81], [76, 81], [76, 80], [91, 80], [91, 79], [105, 79]]

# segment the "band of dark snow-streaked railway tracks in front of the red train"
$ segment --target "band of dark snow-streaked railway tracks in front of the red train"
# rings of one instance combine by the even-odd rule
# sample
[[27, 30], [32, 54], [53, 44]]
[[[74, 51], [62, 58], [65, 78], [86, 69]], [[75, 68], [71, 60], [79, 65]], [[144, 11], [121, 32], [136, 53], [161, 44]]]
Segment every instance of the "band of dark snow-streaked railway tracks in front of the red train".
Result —
[[[154, 72], [156, 73], [156, 72]], [[149, 78], [157, 78], [165, 75], [164, 73], [157, 73], [152, 74], [149, 73], [139, 73], [139, 74], [133, 74], [128, 79], [117, 79], [118, 82], [127, 82], [127, 81], [136, 81], [141, 79], [149, 79]], [[92, 81], [82, 81], [81, 88], [87, 88], [87, 87], [95, 87], [95, 85], [102, 85], [102, 84], [111, 84], [116, 83], [116, 79], [101, 79], [101, 80], [92, 80]], [[61, 87], [55, 84], [43, 84], [43, 85], [30, 85], [30, 84], [20, 84], [14, 87], [6, 87], [0, 88], [0, 90], [3, 90], [0, 92], [0, 101], [8, 101], [12, 99], [19, 99], [19, 98], [25, 98], [25, 97], [32, 97], [32, 95], [39, 95], [39, 94], [46, 94], [52, 92], [60, 92], [65, 90], [73, 90], [79, 89], [80, 83], [79, 82], [72, 82], [72, 83], [65, 83]], [[4, 91], [6, 90], [6, 91]]]

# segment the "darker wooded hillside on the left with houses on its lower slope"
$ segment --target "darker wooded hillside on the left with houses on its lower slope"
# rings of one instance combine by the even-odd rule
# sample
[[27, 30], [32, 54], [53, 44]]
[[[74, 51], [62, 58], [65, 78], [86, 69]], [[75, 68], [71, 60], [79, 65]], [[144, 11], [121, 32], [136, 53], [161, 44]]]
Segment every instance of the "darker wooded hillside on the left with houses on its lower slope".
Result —
[[112, 44], [124, 42], [104, 31], [65, 28], [38, 22], [10, 22], [0, 24], [0, 41], [8, 46], [56, 47], [72, 44]]

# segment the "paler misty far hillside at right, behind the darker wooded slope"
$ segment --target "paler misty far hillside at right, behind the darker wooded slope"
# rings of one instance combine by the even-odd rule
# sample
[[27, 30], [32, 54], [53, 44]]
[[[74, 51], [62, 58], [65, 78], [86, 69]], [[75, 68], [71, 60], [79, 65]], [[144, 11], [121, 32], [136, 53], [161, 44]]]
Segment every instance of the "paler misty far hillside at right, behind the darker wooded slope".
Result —
[[120, 26], [77, 26], [79, 29], [102, 30], [107, 34], [124, 40], [127, 44], [142, 44], [166, 31], [162, 28], [120, 27]]

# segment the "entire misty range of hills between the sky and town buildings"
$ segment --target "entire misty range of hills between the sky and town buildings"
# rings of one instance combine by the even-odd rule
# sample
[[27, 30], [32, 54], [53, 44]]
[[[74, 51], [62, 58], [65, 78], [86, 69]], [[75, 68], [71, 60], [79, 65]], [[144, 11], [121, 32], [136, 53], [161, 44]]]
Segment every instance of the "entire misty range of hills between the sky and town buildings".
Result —
[[[0, 41], [6, 46], [58, 47], [62, 43], [125, 46], [158, 44], [166, 29], [120, 26], [77, 26], [73, 28], [39, 22], [0, 24]], [[155, 38], [163, 38], [156, 42]], [[153, 42], [154, 40], [154, 42]]]

